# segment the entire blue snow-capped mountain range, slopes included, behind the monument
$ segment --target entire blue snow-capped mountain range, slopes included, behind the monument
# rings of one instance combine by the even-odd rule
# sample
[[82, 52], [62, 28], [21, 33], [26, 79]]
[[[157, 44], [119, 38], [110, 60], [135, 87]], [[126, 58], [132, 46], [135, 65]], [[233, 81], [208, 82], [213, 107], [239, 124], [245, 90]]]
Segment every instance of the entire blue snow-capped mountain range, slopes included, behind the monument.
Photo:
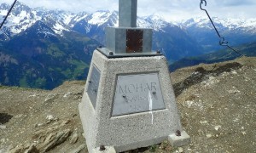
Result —
[[[0, 4], [0, 22], [9, 8]], [[84, 79], [93, 50], [105, 42], [105, 28], [118, 26], [118, 18], [116, 11], [74, 14], [17, 2], [0, 31], [0, 84], [55, 88], [63, 80]], [[213, 21], [231, 45], [256, 42], [255, 20]], [[173, 24], [153, 14], [138, 17], [137, 26], [154, 30], [153, 49], [169, 62], [221, 48], [204, 18]]]

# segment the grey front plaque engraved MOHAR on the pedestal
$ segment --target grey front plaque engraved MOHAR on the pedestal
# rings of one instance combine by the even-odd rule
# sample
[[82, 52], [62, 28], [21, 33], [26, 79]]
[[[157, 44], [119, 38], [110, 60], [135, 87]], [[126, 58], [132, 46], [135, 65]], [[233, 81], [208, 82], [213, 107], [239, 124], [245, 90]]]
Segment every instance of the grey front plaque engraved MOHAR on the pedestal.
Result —
[[165, 108], [158, 73], [118, 76], [112, 116]]

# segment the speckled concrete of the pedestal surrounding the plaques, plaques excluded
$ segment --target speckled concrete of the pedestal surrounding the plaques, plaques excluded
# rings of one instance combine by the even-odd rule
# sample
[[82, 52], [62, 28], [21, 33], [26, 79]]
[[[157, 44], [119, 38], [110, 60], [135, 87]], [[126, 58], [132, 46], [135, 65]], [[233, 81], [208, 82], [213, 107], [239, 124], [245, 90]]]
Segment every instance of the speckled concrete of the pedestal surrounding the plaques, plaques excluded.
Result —
[[[100, 145], [113, 146], [117, 152], [158, 144], [177, 130], [183, 131], [164, 56], [108, 59], [99, 51], [90, 65], [101, 71], [96, 108], [91, 104], [85, 84], [79, 113], [89, 152]], [[113, 99], [119, 75], [157, 73], [166, 109], [112, 116]]]

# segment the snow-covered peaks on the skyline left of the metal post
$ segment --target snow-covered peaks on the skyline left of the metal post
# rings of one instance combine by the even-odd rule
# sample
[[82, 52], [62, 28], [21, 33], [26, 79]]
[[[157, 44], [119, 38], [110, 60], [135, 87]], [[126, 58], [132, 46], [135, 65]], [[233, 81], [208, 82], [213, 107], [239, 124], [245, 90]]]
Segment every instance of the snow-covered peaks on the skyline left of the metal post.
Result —
[[[9, 8], [10, 6], [6, 3], [0, 5], [0, 19], [3, 19]], [[74, 26], [83, 21], [88, 25], [84, 26], [87, 33], [90, 32], [91, 26], [117, 26], [118, 13], [97, 11], [94, 14], [85, 12], [73, 14], [63, 10], [48, 10], [42, 7], [32, 9], [23, 3], [17, 2], [3, 26], [3, 31], [5, 31], [5, 34], [9, 37], [12, 37], [19, 34], [21, 31], [25, 31], [38, 20], [52, 28], [56, 34], [62, 36], [62, 31], [71, 31]]]

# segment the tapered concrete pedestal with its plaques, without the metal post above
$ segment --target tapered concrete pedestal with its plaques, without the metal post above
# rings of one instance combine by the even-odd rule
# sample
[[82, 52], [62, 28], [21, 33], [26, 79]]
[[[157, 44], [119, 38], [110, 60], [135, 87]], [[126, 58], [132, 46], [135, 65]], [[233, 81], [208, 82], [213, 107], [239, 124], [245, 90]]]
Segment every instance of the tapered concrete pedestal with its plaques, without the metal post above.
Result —
[[[134, 80], [125, 82], [122, 77]], [[97, 79], [98, 87], [90, 88]], [[174, 145], [189, 143], [180, 123], [166, 58], [161, 55], [108, 59], [96, 50], [79, 113], [89, 152], [101, 145], [113, 146], [116, 152], [132, 150], [159, 144], [169, 135]], [[181, 138], [184, 133], [185, 141], [177, 139], [177, 130]]]

